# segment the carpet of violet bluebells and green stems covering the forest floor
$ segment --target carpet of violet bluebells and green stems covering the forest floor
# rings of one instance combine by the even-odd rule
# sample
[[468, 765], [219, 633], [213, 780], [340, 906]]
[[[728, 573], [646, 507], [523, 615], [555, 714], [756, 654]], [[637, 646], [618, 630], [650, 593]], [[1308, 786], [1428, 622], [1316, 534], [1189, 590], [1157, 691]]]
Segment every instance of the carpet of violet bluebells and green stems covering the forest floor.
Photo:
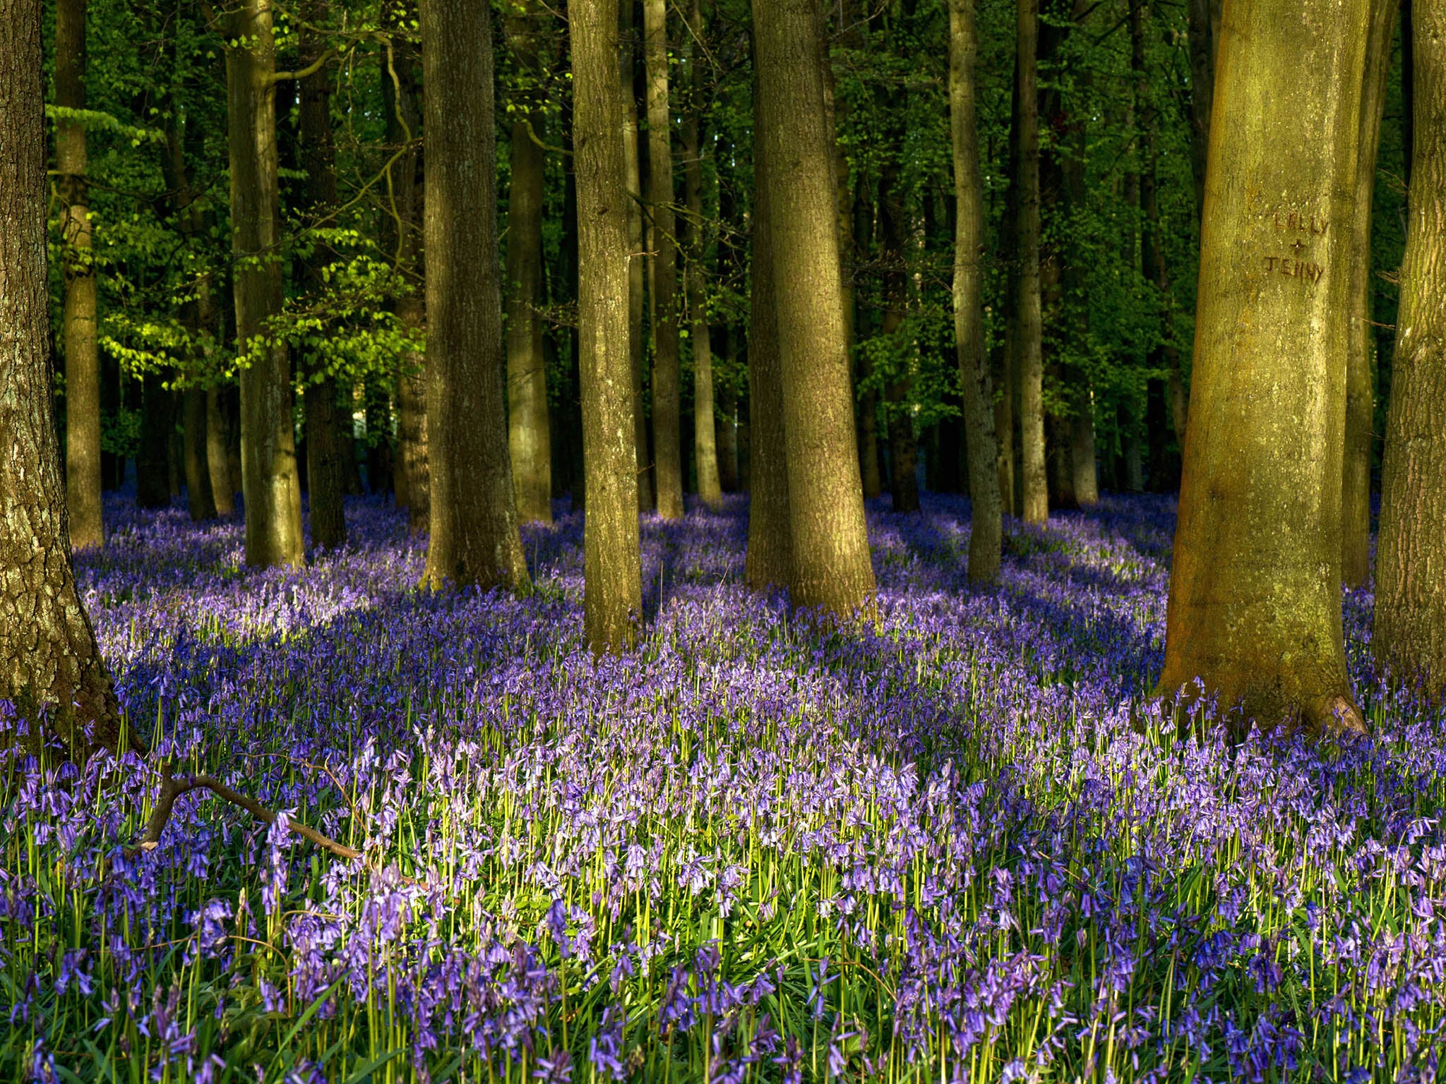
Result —
[[966, 502], [873, 509], [844, 626], [743, 588], [740, 500], [648, 517], [607, 661], [577, 515], [523, 532], [510, 597], [416, 590], [372, 502], [304, 571], [106, 512], [78, 575], [129, 724], [364, 857], [201, 791], [136, 853], [155, 756], [0, 752], [0, 1080], [1437, 1074], [1442, 711], [1372, 676], [1366, 593], [1374, 740], [1141, 707], [1165, 499], [1011, 523], [986, 591]]

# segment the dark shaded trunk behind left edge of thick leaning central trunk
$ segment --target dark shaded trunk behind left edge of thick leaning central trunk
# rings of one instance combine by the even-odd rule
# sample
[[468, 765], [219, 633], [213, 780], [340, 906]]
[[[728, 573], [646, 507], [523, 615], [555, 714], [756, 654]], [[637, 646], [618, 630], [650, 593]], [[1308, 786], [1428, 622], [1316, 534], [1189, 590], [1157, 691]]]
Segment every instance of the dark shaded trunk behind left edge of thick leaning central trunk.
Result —
[[[753, 71], [758, 71], [756, 51]], [[753, 101], [761, 100], [758, 78]], [[784, 373], [774, 308], [774, 236], [769, 198], [766, 111], [753, 119], [753, 259], [748, 325], [749, 503], [743, 575], [755, 591], [792, 582], [794, 542], [788, 525], [788, 451]]]

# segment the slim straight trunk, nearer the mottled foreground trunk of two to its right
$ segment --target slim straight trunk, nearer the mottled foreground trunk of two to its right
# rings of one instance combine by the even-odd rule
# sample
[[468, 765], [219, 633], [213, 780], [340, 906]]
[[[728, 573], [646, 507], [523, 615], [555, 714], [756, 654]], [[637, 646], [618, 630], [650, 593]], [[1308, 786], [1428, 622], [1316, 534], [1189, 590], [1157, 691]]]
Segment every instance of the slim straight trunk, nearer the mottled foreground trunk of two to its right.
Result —
[[652, 214], [652, 451], [658, 515], [683, 515], [683, 421], [678, 376], [678, 243], [672, 214], [672, 143], [668, 116], [668, 4], [643, 0], [648, 68], [648, 207]]

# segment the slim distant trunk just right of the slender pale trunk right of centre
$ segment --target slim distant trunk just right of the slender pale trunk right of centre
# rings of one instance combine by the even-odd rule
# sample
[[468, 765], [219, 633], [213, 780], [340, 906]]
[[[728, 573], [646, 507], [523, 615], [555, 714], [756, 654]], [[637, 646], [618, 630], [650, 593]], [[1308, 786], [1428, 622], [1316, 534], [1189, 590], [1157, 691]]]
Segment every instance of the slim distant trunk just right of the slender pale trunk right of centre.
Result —
[[1019, 451], [1022, 503], [1027, 523], [1050, 517], [1050, 493], [1044, 464], [1044, 321], [1040, 312], [1040, 95], [1035, 78], [1035, 49], [1040, 33], [1038, 0], [1017, 3], [1019, 87], [1019, 186], [1017, 237], [1019, 289], [1015, 301], [1015, 369], [1019, 379]]

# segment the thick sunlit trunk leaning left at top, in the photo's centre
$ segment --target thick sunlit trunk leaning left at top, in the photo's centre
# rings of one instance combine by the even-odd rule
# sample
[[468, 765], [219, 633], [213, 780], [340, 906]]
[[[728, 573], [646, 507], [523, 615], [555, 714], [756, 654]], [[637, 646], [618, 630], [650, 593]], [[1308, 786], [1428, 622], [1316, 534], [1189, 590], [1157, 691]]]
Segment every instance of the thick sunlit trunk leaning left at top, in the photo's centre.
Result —
[[784, 390], [790, 587], [795, 606], [850, 614], [872, 600], [875, 581], [843, 335], [818, 20], [817, 0], [753, 0]]

